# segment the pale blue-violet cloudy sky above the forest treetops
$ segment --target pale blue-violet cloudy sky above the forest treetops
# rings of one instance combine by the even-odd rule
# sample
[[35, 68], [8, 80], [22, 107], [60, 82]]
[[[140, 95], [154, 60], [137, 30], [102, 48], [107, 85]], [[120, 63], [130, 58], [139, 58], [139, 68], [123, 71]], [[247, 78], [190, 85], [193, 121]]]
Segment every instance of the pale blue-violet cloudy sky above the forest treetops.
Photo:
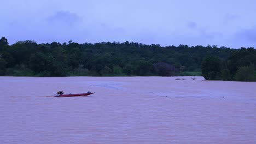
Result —
[[134, 41], [256, 47], [254, 0], [8, 0], [0, 37], [9, 44]]

